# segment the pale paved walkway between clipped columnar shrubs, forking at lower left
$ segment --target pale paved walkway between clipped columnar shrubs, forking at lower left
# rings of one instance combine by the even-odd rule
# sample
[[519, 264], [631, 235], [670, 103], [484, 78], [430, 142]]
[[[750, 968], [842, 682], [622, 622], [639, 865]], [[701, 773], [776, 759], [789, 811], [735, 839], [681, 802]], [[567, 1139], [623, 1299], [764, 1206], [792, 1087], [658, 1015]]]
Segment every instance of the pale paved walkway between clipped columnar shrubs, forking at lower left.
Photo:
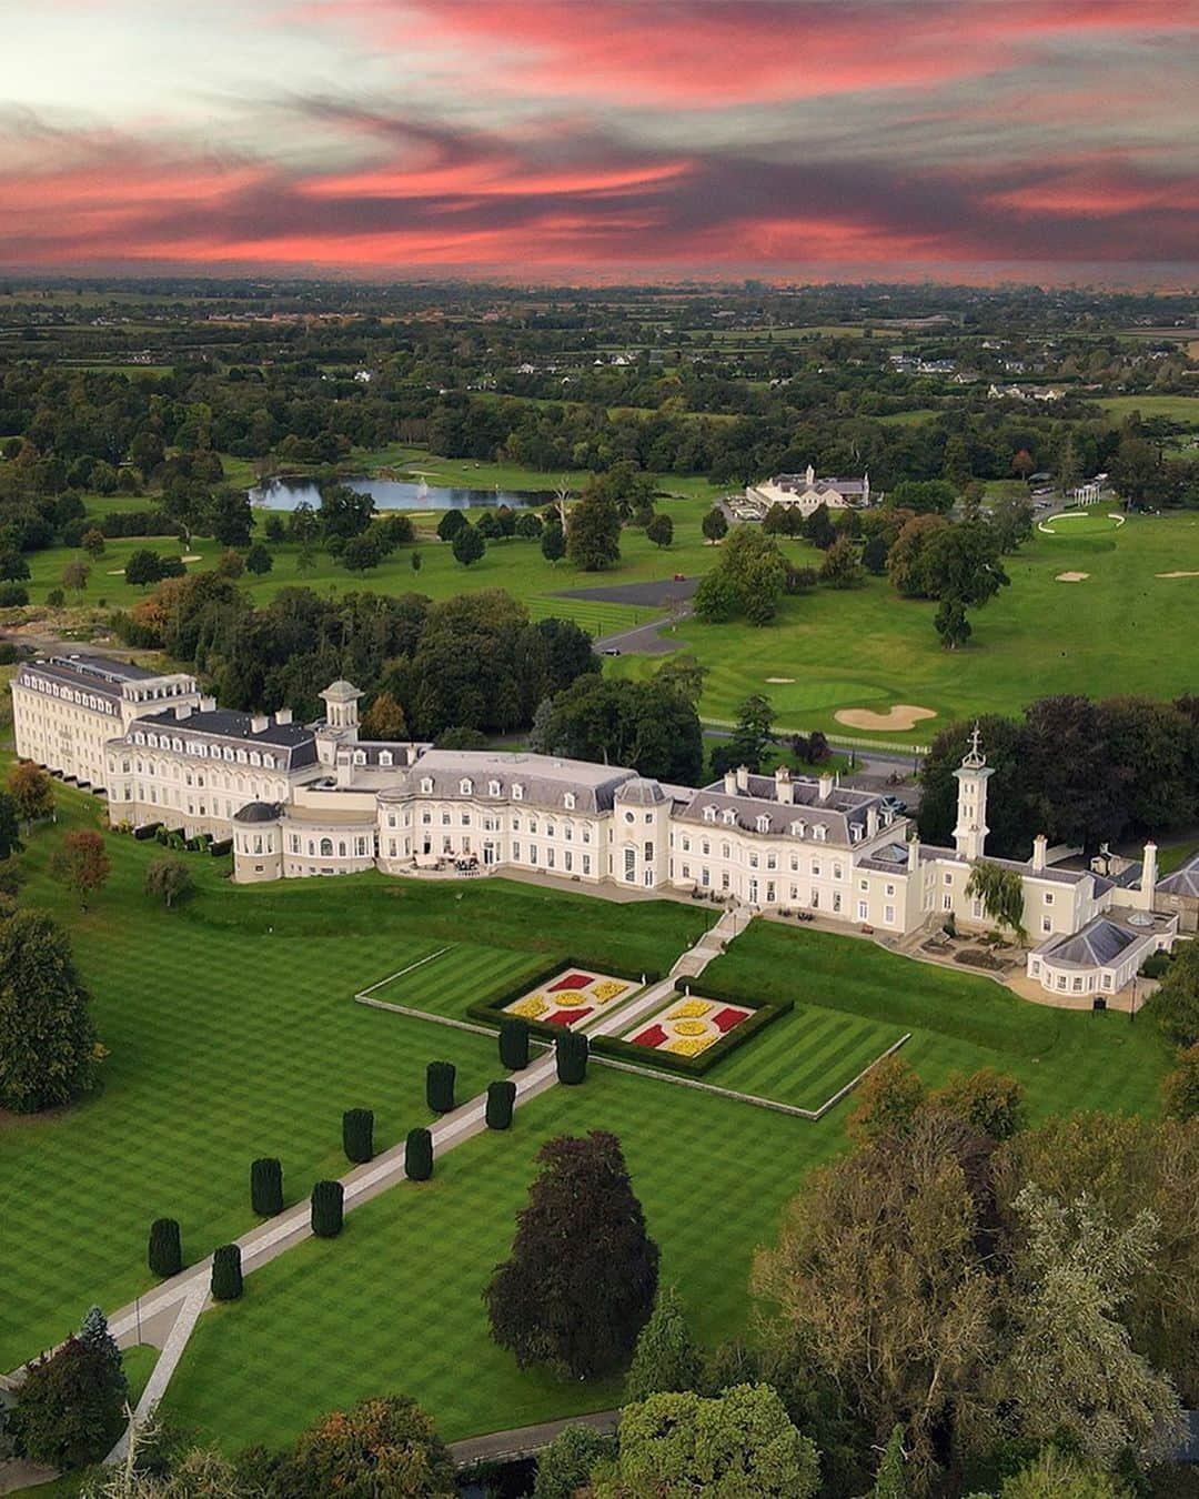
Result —
[[[745, 929], [748, 914], [727, 910], [719, 922], [700, 937], [694, 947], [682, 953], [670, 974], [659, 983], [649, 985], [629, 1003], [617, 1006], [614, 1010], [601, 1012], [597, 1019], [580, 1027], [589, 1036], [610, 1036], [613, 1031], [634, 1025], [644, 1013], [658, 1009], [662, 1001], [673, 994], [674, 980], [680, 974], [698, 973], [715, 958], [724, 944], [736, 932]], [[546, 1093], [558, 1082], [558, 1063], [553, 1051], [531, 1061], [519, 1073], [511, 1075], [516, 1082], [516, 1106]], [[444, 1114], [430, 1127], [433, 1136], [435, 1160], [453, 1150], [463, 1141], [480, 1135], [486, 1127], [487, 1094], [471, 1099], [469, 1103]], [[387, 1192], [397, 1181], [406, 1180], [405, 1174], [405, 1144], [400, 1142], [376, 1156], [364, 1166], [342, 1177], [345, 1189], [345, 1210], [351, 1213], [363, 1202], [369, 1202], [379, 1193]], [[312, 1208], [307, 1199], [288, 1208], [285, 1213], [259, 1223], [243, 1234], [235, 1243], [241, 1249], [241, 1271], [252, 1274], [262, 1265], [270, 1264], [279, 1255], [286, 1253], [295, 1244], [312, 1237]], [[129, 1348], [135, 1343], [151, 1343], [160, 1349], [159, 1361], [150, 1376], [150, 1382], [138, 1402], [135, 1420], [144, 1420], [153, 1405], [162, 1399], [166, 1387], [178, 1367], [187, 1340], [199, 1321], [201, 1313], [208, 1306], [213, 1256], [205, 1255], [195, 1265], [189, 1265], [178, 1276], [162, 1282], [145, 1297], [138, 1297], [129, 1306], [114, 1312], [108, 1319], [108, 1327], [118, 1346]], [[19, 1381], [22, 1370], [15, 1370], [13, 1378]], [[117, 1447], [109, 1454], [109, 1462], [118, 1462], [127, 1451], [129, 1433], [121, 1436]]]

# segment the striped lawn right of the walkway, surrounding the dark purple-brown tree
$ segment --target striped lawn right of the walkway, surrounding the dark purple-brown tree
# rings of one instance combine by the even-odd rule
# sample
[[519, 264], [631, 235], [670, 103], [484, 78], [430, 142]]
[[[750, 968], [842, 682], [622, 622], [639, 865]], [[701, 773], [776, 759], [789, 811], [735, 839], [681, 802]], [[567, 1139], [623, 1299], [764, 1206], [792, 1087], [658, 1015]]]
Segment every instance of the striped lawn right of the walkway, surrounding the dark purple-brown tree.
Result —
[[[387, 1019], [387, 1016], [379, 1016]], [[306, 1243], [205, 1313], [165, 1409], [222, 1447], [282, 1444], [321, 1411], [379, 1391], [415, 1396], [448, 1441], [619, 1400], [614, 1384], [522, 1373], [489, 1336], [481, 1291], [513, 1240], [541, 1142], [614, 1130], [634, 1190], [697, 1334], [743, 1330], [754, 1247], [773, 1237], [800, 1175], [841, 1141], [739, 1103], [592, 1069], [517, 1112], [511, 1132], [445, 1156], [354, 1211], [342, 1238]]]

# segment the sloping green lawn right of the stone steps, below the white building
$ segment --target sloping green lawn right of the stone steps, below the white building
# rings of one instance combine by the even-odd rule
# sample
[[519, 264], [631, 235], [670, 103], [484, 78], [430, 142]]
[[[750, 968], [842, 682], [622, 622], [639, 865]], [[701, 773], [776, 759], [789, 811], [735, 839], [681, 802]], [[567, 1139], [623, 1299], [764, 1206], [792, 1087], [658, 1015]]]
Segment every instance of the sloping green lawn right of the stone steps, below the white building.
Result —
[[[809, 1010], [911, 1031], [901, 1055], [929, 1085], [955, 1069], [1009, 1072], [1025, 1085], [1034, 1117], [1100, 1108], [1156, 1112], [1157, 1087], [1171, 1063], [1151, 1021], [1033, 1004], [992, 979], [778, 922], [752, 922], [704, 977], [734, 998], [794, 998], [802, 1006], [713, 1067], [710, 1082], [727, 1082], [739, 1067], [773, 1069], [784, 1055], [793, 1055], [799, 1070]], [[776, 1087], [791, 1082], [784, 1073]]]

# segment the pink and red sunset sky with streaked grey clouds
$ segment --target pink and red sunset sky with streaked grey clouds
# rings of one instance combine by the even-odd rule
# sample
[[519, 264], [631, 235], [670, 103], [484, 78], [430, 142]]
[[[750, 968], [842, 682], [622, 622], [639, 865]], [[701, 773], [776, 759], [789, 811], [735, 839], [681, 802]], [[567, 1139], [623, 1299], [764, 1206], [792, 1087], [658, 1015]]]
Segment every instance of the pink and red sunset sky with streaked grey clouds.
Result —
[[1199, 285], [1199, 0], [3, 0], [0, 267]]

